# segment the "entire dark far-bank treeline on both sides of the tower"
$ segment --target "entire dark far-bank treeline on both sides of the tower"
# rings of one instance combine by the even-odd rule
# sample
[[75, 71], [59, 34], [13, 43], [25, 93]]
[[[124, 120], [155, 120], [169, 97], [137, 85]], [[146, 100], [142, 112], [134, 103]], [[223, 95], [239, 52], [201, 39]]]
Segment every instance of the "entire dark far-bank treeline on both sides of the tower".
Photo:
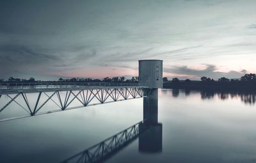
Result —
[[[93, 78], [59, 78], [56, 81], [41, 81], [31, 77], [29, 79], [20, 79], [10, 77], [8, 80], [0, 79], [0, 83], [138, 83], [138, 76], [131, 78], [122, 77], [106, 77], [102, 79]], [[195, 80], [179, 80], [179, 78], [163, 78], [163, 87], [166, 89], [208, 89], [208, 90], [256, 90], [256, 74], [245, 74], [239, 79], [228, 79], [225, 77], [214, 80], [202, 76], [200, 81]]]

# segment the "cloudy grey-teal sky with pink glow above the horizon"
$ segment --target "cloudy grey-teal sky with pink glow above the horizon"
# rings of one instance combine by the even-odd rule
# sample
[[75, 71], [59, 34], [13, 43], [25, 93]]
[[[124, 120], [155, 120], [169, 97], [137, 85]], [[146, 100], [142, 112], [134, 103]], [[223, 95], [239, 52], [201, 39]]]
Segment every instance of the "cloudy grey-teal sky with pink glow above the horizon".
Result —
[[255, 0], [0, 0], [0, 78], [256, 73]]

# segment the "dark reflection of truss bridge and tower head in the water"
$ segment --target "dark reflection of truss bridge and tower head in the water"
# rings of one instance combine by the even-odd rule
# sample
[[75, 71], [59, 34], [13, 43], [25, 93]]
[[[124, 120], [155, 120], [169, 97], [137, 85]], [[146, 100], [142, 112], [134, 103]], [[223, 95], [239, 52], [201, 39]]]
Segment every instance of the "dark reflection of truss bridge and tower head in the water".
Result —
[[139, 151], [154, 153], [162, 151], [162, 124], [148, 124], [147, 120], [138, 122], [124, 131], [79, 152], [62, 163], [104, 162], [115, 155], [136, 138], [139, 138]]

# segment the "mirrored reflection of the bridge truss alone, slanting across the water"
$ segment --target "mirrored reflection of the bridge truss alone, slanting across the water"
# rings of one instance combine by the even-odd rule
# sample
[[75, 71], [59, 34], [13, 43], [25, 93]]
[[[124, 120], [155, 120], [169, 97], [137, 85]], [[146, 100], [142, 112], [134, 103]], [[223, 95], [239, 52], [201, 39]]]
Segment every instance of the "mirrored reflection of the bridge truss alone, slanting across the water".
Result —
[[144, 121], [138, 122], [124, 131], [118, 132], [97, 145], [64, 160], [62, 163], [103, 162], [129, 145], [134, 139], [138, 138], [139, 134], [146, 130], [140, 131], [139, 127]]

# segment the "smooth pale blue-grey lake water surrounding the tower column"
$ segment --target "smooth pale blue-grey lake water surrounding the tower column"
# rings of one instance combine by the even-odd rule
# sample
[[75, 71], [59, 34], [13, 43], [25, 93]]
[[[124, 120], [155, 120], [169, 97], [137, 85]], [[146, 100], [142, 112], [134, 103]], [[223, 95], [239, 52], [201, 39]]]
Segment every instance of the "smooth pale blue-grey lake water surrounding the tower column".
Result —
[[[141, 153], [136, 139], [106, 162], [256, 162], [255, 95], [158, 95], [162, 152]], [[142, 119], [143, 99], [132, 99], [1, 122], [0, 162], [60, 162]]]

